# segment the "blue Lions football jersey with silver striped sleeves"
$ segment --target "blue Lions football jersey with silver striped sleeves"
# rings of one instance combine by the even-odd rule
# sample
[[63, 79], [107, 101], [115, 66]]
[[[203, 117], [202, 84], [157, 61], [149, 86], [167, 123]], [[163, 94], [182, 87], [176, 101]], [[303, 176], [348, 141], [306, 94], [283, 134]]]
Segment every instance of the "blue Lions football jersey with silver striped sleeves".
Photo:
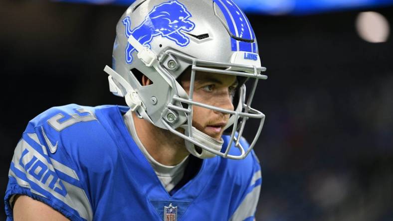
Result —
[[7, 220], [15, 195], [73, 221], [253, 220], [262, 181], [253, 152], [244, 160], [200, 160], [196, 175], [168, 193], [127, 130], [127, 110], [67, 105], [32, 119], [9, 169]]

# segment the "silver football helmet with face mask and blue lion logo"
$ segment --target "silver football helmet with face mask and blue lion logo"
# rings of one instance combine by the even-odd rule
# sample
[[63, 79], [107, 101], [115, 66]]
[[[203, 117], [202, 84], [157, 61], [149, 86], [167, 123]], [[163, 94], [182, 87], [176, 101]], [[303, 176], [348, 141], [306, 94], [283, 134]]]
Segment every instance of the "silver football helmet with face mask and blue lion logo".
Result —
[[[184, 138], [188, 151], [199, 158], [243, 159], [250, 153], [265, 118], [250, 105], [258, 80], [267, 76], [261, 74], [266, 68], [261, 67], [252, 27], [232, 0], [137, 0], [121, 17], [116, 34], [112, 68], [106, 66], [104, 71], [109, 74], [110, 91], [125, 97], [139, 118]], [[187, 94], [176, 79], [189, 67]], [[194, 101], [197, 71], [254, 80], [248, 100], [242, 84], [235, 110]], [[138, 74], [153, 84], [142, 86]], [[225, 127], [232, 128], [227, 146], [192, 125], [193, 106], [230, 114]], [[240, 137], [249, 118], [260, 123], [245, 150]], [[179, 127], [185, 132], [179, 132]], [[229, 154], [233, 142], [239, 154]]]

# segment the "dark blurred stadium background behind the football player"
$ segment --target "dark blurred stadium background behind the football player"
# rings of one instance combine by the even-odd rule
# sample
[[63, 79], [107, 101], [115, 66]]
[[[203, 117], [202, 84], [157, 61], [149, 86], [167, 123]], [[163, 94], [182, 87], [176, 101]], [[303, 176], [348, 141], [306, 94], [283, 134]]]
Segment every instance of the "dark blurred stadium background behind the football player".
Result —
[[[2, 191], [35, 115], [69, 103], [124, 104], [103, 68], [131, 1], [71, 1], [0, 1]], [[254, 100], [267, 116], [255, 147], [257, 220], [392, 221], [392, 0], [237, 3], [269, 76]]]

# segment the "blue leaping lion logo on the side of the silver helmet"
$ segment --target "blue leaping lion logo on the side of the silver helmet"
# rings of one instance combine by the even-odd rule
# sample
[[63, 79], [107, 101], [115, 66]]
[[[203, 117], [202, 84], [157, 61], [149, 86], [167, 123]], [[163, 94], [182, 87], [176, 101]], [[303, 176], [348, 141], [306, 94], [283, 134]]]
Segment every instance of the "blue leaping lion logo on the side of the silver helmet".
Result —
[[[127, 16], [123, 19], [126, 36], [133, 35], [142, 45], [151, 48], [150, 42], [154, 37], [162, 36], [174, 41], [177, 45], [185, 47], [189, 45], [190, 38], [182, 31], [192, 31], [195, 23], [190, 21], [191, 13], [177, 0], [170, 0], [154, 6], [146, 15], [145, 20], [138, 27], [131, 29], [131, 20]], [[126, 62], [133, 60], [132, 53], [136, 49], [128, 43], [126, 48]]]

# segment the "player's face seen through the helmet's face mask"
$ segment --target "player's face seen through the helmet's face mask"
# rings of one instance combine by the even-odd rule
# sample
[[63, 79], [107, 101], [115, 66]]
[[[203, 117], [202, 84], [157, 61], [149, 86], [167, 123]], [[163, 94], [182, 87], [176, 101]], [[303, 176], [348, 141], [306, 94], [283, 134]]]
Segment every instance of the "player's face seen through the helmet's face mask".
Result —
[[[190, 92], [191, 73], [183, 74], [181, 83], [187, 93]], [[237, 86], [236, 76], [197, 72], [195, 76], [195, 102], [233, 110], [232, 96]], [[219, 140], [229, 114], [193, 106], [193, 126], [207, 135]]]

